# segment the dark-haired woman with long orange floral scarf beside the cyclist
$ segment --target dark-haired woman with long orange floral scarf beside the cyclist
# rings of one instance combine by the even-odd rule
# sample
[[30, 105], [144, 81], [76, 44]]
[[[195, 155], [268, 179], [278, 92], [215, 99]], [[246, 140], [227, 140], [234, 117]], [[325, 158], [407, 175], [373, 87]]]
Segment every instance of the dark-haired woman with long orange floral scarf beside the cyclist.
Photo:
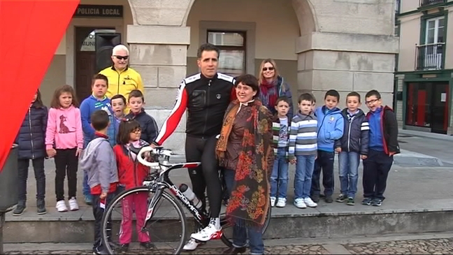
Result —
[[233, 224], [233, 247], [223, 254], [264, 254], [261, 229], [270, 206], [269, 177], [273, 168], [271, 112], [255, 99], [258, 80], [253, 75], [236, 78], [236, 96], [224, 116], [216, 154], [224, 168], [230, 194], [227, 217]]

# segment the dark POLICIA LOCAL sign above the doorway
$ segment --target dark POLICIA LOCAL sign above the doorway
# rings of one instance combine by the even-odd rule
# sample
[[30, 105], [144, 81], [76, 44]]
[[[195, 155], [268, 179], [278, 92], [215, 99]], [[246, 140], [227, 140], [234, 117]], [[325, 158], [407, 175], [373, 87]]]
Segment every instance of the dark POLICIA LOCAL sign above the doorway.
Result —
[[123, 6], [96, 6], [79, 4], [74, 17], [122, 17]]

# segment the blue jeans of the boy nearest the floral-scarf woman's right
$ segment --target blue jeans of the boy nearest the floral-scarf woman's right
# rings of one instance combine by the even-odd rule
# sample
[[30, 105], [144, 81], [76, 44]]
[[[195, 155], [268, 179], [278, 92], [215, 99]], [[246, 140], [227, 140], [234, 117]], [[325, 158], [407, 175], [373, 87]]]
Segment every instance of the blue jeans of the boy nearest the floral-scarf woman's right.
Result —
[[288, 189], [288, 160], [286, 147], [278, 148], [271, 175], [271, 196], [286, 198]]

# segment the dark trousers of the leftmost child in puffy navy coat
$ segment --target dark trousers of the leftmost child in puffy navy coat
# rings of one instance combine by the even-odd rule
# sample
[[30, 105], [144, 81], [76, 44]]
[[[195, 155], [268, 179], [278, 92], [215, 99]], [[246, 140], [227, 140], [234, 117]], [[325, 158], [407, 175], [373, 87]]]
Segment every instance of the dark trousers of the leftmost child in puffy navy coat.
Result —
[[[19, 175], [19, 203], [27, 201], [27, 179], [29, 173], [30, 159], [18, 159], [17, 170]], [[36, 199], [44, 200], [45, 198], [45, 173], [44, 158], [31, 159], [34, 175], [36, 179]]]

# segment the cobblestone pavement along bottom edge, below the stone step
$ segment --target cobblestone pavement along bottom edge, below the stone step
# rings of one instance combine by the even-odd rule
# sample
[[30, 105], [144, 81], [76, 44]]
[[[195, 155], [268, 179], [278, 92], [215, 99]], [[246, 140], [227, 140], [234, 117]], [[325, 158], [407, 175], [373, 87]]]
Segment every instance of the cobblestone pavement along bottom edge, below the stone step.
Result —
[[[326, 245], [326, 247], [329, 245]], [[398, 240], [387, 242], [360, 242], [354, 244], [337, 245], [336, 248], [326, 249], [323, 245], [276, 245], [266, 248], [266, 254], [338, 254], [338, 247], [343, 248], [345, 254], [453, 254], [453, 238], [425, 239], [425, 240]], [[225, 247], [200, 247], [195, 252], [181, 254], [222, 254]], [[169, 251], [131, 250], [128, 254], [171, 254]], [[8, 251], [5, 254], [92, 254], [89, 250], [40, 250], [40, 251]]]

